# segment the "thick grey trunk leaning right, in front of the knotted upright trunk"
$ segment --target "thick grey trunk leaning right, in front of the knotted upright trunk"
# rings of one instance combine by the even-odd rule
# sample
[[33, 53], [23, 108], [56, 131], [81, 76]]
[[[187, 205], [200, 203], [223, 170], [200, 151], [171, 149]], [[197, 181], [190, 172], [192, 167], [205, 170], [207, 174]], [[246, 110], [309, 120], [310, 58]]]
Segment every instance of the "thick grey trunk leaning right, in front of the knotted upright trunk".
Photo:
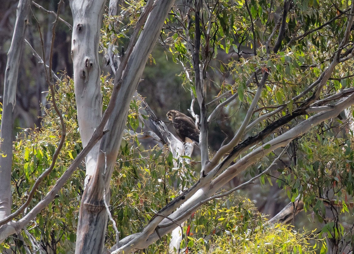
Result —
[[[115, 77], [114, 87], [117, 87], [119, 84], [119, 94], [115, 101], [113, 101], [115, 106], [106, 124], [105, 135], [100, 142], [95, 172], [93, 172], [82, 196], [76, 237], [76, 254], [103, 252], [105, 229], [107, 226], [107, 210], [104, 206], [104, 199], [109, 203], [110, 178], [118, 156], [129, 104], [140, 81], [145, 63], [154, 48], [156, 39], [160, 35], [162, 25], [173, 2], [174, 0], [155, 1], [154, 8], [149, 14], [131, 55], [128, 52], [125, 56], [129, 60], [122, 78], [120, 79], [119, 75]], [[85, 10], [85, 13], [90, 14], [90, 20], [93, 19], [92, 12]], [[83, 13], [82, 15], [85, 14]], [[74, 19], [74, 29], [84, 29], [85, 31], [86, 25], [84, 23], [80, 26]], [[91, 35], [91, 37], [93, 36]], [[85, 66], [87, 68], [91, 67], [91, 65], [87, 64]], [[85, 68], [82, 69], [82, 71], [86, 70]], [[82, 75], [81, 78], [84, 78], [84, 76]], [[86, 73], [85, 78], [88, 78]], [[89, 99], [92, 100], [92, 97], [87, 98], [87, 100]]]

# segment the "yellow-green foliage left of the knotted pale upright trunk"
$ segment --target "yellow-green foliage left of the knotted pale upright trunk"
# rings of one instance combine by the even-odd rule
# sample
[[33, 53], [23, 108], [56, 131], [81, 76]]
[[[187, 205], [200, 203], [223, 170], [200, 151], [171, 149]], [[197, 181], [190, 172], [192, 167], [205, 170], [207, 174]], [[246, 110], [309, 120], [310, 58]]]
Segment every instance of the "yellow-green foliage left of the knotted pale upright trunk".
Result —
[[[62, 82], [56, 84], [56, 88], [57, 105], [66, 125], [66, 138], [54, 169], [39, 185], [28, 207], [29, 210], [46, 195], [81, 150], [73, 80], [63, 78]], [[51, 96], [48, 95], [47, 99], [48, 104], [43, 105], [45, 112], [42, 126], [30, 130], [27, 134], [20, 132], [14, 142], [11, 178], [12, 211], [18, 209], [28, 199], [28, 193], [34, 182], [52, 163], [52, 156], [61, 137], [61, 125], [51, 106]], [[48, 249], [69, 253], [74, 247], [76, 219], [80, 195], [83, 191], [82, 181], [85, 176], [82, 169], [83, 165], [74, 172], [70, 181], [59, 191], [52, 203], [27, 226], [28, 233], [34, 237], [34, 240], [41, 242]], [[27, 239], [24, 231], [22, 235]], [[2, 247], [9, 248], [14, 245], [20, 253], [25, 253], [22, 242], [18, 242], [16, 238], [11, 240], [9, 237]]]

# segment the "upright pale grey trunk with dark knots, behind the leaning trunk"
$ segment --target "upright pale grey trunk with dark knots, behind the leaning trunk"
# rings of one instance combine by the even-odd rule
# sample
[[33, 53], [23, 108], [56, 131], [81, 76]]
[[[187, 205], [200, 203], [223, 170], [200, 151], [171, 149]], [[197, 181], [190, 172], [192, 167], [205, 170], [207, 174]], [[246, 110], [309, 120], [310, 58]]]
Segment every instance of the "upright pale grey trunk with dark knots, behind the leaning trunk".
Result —
[[[72, 59], [75, 99], [82, 146], [86, 147], [102, 117], [101, 69], [98, 46], [106, 0], [71, 0], [73, 13]], [[96, 167], [99, 144], [85, 158], [85, 184]]]

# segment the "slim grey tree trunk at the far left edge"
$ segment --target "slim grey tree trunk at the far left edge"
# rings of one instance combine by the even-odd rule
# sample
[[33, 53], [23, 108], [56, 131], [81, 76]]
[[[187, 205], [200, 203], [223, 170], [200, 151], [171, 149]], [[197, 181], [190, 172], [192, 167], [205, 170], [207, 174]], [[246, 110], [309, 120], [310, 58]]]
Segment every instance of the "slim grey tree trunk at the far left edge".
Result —
[[16, 103], [16, 88], [19, 62], [22, 55], [24, 32], [28, 23], [29, 1], [20, 0], [11, 46], [7, 54], [4, 81], [4, 100], [1, 119], [0, 150], [0, 220], [11, 212], [11, 169], [12, 169], [12, 138], [13, 110]]

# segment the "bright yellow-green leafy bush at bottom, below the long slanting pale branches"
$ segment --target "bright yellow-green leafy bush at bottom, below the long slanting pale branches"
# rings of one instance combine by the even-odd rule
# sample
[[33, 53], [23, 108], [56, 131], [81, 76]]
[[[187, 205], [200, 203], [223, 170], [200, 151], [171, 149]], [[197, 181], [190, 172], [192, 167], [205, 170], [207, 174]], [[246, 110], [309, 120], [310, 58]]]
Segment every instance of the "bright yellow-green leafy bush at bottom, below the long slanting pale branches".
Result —
[[[225, 202], [203, 207], [195, 214], [194, 234], [184, 239], [188, 253], [213, 254], [296, 254], [315, 253], [318, 243], [309, 232], [299, 232], [289, 225], [267, 224], [252, 202]], [[200, 218], [209, 223], [201, 223]], [[315, 242], [315, 243], [314, 243]], [[321, 244], [320, 244], [321, 245]]]

